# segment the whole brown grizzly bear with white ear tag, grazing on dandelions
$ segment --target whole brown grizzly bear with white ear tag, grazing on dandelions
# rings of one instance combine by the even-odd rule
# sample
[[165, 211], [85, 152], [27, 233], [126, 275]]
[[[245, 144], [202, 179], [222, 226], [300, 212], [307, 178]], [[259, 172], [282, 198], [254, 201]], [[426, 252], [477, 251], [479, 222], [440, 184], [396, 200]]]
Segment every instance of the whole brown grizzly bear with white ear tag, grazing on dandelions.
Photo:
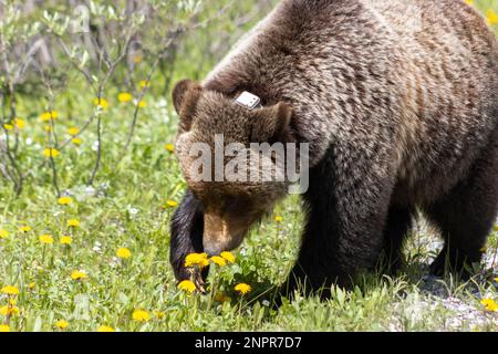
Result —
[[[255, 102], [240, 104], [242, 93]], [[200, 284], [185, 256], [237, 248], [287, 194], [191, 179], [188, 148], [215, 148], [219, 134], [309, 144], [307, 221], [283, 294], [328, 296], [381, 263], [396, 272], [418, 214], [445, 240], [434, 274], [479, 262], [498, 210], [498, 44], [464, 1], [283, 0], [173, 101], [189, 187], [172, 220], [178, 280]]]

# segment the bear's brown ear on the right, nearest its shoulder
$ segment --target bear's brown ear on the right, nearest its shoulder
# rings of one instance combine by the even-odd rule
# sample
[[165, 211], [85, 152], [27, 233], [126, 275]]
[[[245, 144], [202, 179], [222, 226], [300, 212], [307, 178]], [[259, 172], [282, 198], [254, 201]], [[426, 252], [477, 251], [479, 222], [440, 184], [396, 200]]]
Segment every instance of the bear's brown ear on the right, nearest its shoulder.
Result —
[[255, 112], [251, 142], [270, 143], [280, 142], [289, 128], [292, 117], [292, 107], [280, 102], [271, 107]]

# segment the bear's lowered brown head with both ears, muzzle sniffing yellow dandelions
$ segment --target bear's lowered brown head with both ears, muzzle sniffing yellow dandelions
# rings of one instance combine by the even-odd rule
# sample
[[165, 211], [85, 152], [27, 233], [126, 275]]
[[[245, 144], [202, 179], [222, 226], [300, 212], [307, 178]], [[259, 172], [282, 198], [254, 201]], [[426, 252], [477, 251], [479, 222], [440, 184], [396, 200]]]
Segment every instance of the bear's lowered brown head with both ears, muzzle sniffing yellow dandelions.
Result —
[[287, 194], [276, 154], [263, 158], [251, 146], [284, 143], [291, 107], [278, 103], [250, 110], [188, 80], [175, 86], [173, 102], [179, 115], [175, 153], [204, 206], [204, 250], [210, 256], [232, 250]]

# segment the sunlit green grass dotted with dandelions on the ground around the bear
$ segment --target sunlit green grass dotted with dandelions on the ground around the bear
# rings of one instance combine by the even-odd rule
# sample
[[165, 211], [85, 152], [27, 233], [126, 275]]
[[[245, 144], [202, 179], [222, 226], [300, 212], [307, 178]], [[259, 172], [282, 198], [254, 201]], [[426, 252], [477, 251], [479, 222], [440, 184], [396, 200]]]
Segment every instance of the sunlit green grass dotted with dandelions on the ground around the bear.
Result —
[[[475, 3], [497, 8], [496, 1]], [[93, 108], [93, 97], [79, 90], [77, 82], [72, 86], [55, 102], [60, 137], [68, 137], [68, 128], [79, 126]], [[106, 94], [104, 155], [94, 188], [85, 186], [95, 155], [94, 132], [86, 132], [81, 146], [70, 145], [56, 158], [59, 184], [72, 197], [70, 205], [58, 204], [46, 167], [32, 168], [31, 183], [20, 198], [10, 186], [0, 186], [0, 229], [9, 233], [0, 239], [0, 288], [20, 290], [10, 298], [0, 295], [0, 306], [17, 300], [18, 314], [0, 314], [0, 322], [11, 331], [96, 331], [101, 325], [117, 331], [496, 331], [497, 313], [486, 312], [480, 303], [480, 296], [498, 300], [492, 279], [440, 280], [446, 295], [484, 319], [457, 326], [452, 321], [458, 313], [445, 306], [443, 298], [421, 289], [425, 264], [435, 256], [429, 247], [433, 239], [423, 230], [407, 246], [411, 266], [400, 278], [367, 275], [354, 291], [335, 289], [330, 301], [297, 298], [279, 311], [270, 309], [264, 294], [286, 279], [299, 247], [302, 215], [294, 197], [251, 232], [235, 252], [235, 264], [212, 269], [215, 291], [188, 295], [178, 290], [168, 263], [168, 227], [175, 207], [167, 200], [179, 202], [186, 186], [174, 155], [165, 148], [174, 140], [177, 117], [166, 98], [147, 98], [134, 143], [123, 155], [122, 132], [128, 121], [122, 117], [129, 117], [133, 107], [118, 104], [117, 92]], [[38, 166], [45, 138], [38, 123], [43, 103], [25, 96], [18, 110], [28, 121], [21, 133], [20, 163]], [[79, 220], [80, 227], [69, 227], [70, 219]], [[21, 232], [22, 226], [31, 230]], [[53, 243], [42, 243], [41, 235], [51, 235]], [[61, 244], [62, 236], [70, 236], [72, 243]], [[488, 252], [496, 252], [497, 244], [495, 232]], [[120, 259], [120, 248], [129, 249], [132, 256]], [[75, 270], [86, 278], [73, 280]], [[245, 296], [235, 293], [239, 282], [249, 283], [253, 291]], [[231, 301], [216, 301], [218, 293]], [[151, 319], [133, 320], [136, 310], [147, 311]], [[60, 320], [68, 322], [65, 329], [56, 326]]]

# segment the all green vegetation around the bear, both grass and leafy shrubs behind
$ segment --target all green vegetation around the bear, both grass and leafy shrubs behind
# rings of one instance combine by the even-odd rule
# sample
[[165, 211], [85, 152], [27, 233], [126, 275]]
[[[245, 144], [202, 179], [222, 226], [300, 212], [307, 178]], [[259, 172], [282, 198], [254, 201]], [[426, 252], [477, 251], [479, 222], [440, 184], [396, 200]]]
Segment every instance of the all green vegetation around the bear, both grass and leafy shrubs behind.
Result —
[[[333, 300], [298, 298], [272, 310], [264, 299], [299, 247], [294, 197], [251, 232], [234, 264], [211, 266], [208, 294], [177, 288], [169, 218], [186, 185], [169, 145], [177, 125], [170, 84], [200, 80], [274, 2], [148, 1], [155, 15], [141, 18], [121, 15], [134, 1], [95, 1], [85, 35], [73, 33], [64, 19], [77, 13], [62, 1], [20, 14], [8, 1], [0, 18], [0, 330], [497, 330], [498, 312], [481, 303], [498, 301], [496, 230], [487, 264], [468, 283], [429, 280], [436, 290], [428, 289], [436, 239], [421, 227], [400, 278], [369, 275], [352, 292], [335, 289]], [[470, 2], [498, 34], [496, 0]], [[105, 44], [85, 42], [95, 38]], [[38, 40], [43, 50], [30, 58]], [[52, 111], [56, 118], [43, 116]], [[252, 287], [243, 296], [234, 290], [241, 282]]]

